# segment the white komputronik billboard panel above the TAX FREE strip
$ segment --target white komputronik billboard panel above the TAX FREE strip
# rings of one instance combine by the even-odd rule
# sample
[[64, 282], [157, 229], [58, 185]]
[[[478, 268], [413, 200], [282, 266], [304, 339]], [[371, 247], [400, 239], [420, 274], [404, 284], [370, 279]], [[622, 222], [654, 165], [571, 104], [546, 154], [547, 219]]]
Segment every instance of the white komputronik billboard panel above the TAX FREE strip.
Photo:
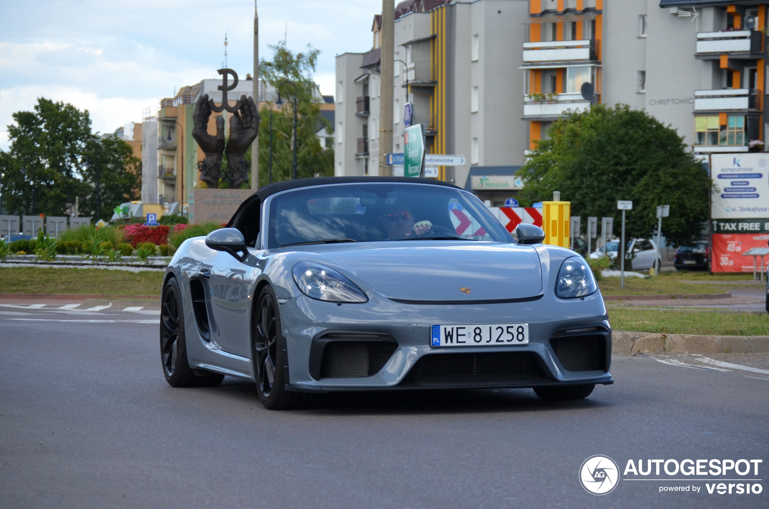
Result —
[[711, 218], [769, 218], [769, 154], [711, 155], [711, 178]]

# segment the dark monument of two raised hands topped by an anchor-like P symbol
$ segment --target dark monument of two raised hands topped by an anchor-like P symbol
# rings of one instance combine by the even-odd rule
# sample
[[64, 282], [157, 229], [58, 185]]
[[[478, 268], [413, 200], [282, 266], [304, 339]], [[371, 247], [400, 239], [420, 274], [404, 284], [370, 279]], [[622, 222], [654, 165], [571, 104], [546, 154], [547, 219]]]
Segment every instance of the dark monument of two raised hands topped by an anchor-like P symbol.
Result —
[[[215, 189], [218, 188], [221, 178], [228, 181], [229, 188], [237, 189], [243, 182], [248, 181], [249, 166], [245, 160], [245, 152], [258, 135], [259, 111], [254, 99], [246, 98], [245, 94], [235, 101], [235, 105], [229, 105], [227, 92], [238, 85], [238, 73], [228, 68], [219, 69], [218, 73], [222, 75], [221, 85], [217, 87], [221, 90], [221, 104], [215, 105], [214, 100], [208, 98], [208, 94], [198, 97], [192, 114], [192, 137], [205, 154], [205, 158], [198, 161], [201, 181], [208, 184], [208, 188]], [[227, 84], [228, 75], [232, 76], [231, 85]], [[233, 114], [226, 146], [224, 117], [218, 115], [215, 118], [216, 134], [208, 134], [208, 118], [211, 117], [211, 111], [221, 113], [225, 110]], [[225, 152], [227, 166], [222, 169], [221, 161]]]

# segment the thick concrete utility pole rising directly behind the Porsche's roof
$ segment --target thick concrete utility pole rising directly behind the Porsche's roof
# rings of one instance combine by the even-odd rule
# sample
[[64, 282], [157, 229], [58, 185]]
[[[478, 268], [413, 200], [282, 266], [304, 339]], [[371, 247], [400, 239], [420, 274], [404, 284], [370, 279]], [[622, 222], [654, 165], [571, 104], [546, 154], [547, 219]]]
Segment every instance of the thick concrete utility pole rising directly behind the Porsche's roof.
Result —
[[382, 0], [382, 45], [379, 58], [379, 175], [391, 176], [392, 166], [387, 165], [387, 154], [392, 150], [392, 108], [393, 108], [393, 58], [395, 2]]

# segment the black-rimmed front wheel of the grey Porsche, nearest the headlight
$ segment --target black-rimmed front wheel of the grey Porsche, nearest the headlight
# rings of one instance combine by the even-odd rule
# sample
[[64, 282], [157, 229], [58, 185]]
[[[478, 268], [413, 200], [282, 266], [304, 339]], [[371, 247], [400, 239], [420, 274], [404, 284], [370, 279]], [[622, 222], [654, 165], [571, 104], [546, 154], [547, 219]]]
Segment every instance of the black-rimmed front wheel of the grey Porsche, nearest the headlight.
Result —
[[285, 367], [288, 364], [285, 337], [278, 299], [270, 286], [262, 288], [256, 301], [251, 338], [256, 391], [261, 404], [268, 410], [310, 406], [312, 394], [287, 391], [285, 388]]

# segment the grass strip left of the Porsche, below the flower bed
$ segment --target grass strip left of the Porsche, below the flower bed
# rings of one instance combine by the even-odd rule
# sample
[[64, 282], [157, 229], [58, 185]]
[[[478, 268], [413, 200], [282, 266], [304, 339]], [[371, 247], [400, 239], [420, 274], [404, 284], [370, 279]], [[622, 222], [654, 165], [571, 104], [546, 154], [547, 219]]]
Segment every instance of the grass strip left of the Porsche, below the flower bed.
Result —
[[0, 293], [160, 294], [160, 271], [110, 271], [103, 268], [0, 268]]

